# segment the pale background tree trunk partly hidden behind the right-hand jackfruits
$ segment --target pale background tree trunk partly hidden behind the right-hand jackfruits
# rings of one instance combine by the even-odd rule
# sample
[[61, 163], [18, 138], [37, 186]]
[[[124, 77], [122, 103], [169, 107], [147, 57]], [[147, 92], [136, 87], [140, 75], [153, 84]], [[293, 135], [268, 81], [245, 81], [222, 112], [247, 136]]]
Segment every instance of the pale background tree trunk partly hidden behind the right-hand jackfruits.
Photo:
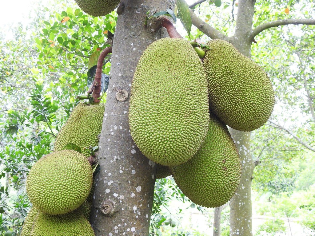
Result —
[[[245, 56], [251, 56], [249, 34], [252, 30], [255, 0], [240, 0], [236, 20], [235, 34], [231, 43]], [[241, 162], [242, 177], [236, 194], [230, 200], [230, 236], [252, 236], [252, 199], [251, 184], [255, 168], [250, 153], [250, 132], [241, 132], [230, 128], [237, 146]]]

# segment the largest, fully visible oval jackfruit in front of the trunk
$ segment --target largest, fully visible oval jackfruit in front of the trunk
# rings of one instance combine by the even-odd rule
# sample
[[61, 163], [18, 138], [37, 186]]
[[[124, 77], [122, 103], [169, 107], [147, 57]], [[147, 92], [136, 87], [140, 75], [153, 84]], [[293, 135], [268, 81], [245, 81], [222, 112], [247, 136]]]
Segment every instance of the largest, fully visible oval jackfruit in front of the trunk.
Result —
[[189, 42], [162, 38], [136, 66], [129, 102], [130, 133], [140, 151], [163, 166], [192, 158], [209, 127], [207, 77]]

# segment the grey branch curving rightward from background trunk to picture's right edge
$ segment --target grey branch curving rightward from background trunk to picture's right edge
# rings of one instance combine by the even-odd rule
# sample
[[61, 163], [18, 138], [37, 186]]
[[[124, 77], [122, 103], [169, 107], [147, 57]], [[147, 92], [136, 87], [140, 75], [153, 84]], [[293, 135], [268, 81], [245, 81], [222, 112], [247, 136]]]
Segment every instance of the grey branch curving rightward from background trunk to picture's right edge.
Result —
[[251, 40], [253, 40], [260, 32], [280, 25], [315, 25], [315, 19], [285, 19], [267, 22], [253, 29], [249, 37]]

